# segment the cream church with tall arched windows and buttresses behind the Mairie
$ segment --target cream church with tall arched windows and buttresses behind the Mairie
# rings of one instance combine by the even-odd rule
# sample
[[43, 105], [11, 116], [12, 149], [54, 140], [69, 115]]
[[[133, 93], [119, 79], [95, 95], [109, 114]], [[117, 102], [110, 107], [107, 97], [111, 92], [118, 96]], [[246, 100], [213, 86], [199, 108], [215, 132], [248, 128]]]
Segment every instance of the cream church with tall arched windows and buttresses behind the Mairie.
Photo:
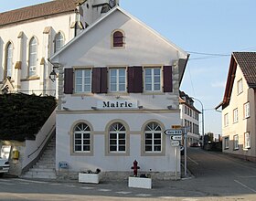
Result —
[[56, 96], [48, 58], [111, 8], [108, 0], [57, 0], [0, 13], [0, 93]]

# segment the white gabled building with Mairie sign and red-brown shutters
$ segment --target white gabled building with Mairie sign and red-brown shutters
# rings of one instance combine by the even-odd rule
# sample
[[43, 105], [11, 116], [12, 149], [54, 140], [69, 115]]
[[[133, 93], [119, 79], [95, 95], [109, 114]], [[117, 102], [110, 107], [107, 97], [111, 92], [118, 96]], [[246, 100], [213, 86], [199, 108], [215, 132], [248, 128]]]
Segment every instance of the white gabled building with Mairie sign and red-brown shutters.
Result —
[[136, 160], [139, 173], [180, 175], [180, 154], [164, 132], [180, 124], [187, 58], [119, 6], [49, 58], [59, 68], [56, 168], [124, 178]]

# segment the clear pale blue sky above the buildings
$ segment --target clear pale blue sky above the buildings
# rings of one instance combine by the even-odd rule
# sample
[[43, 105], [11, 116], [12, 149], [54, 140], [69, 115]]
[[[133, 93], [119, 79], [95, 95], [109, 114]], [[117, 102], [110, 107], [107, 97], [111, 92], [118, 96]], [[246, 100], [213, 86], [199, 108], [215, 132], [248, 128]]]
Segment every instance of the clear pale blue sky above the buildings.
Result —
[[[48, 1], [0, 0], [0, 12]], [[202, 102], [205, 133], [221, 134], [214, 108], [223, 99], [231, 53], [256, 51], [256, 1], [120, 0], [120, 6], [190, 54], [180, 90]]]

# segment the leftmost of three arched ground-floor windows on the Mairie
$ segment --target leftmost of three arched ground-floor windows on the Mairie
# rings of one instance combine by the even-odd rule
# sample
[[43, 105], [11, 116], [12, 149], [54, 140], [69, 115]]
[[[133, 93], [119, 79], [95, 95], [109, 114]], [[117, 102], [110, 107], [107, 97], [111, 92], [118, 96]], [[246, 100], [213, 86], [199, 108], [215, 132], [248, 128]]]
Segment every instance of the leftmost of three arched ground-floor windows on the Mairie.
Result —
[[74, 128], [74, 152], [91, 152], [91, 129], [86, 123], [79, 123]]

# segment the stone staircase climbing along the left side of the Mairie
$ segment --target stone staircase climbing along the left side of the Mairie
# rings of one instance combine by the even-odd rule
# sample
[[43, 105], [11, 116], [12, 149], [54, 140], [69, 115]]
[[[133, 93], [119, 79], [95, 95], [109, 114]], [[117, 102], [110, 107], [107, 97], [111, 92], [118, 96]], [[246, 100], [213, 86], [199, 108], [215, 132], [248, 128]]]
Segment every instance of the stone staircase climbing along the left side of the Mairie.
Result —
[[56, 179], [56, 136], [50, 140], [48, 146], [37, 164], [30, 168], [22, 178]]

